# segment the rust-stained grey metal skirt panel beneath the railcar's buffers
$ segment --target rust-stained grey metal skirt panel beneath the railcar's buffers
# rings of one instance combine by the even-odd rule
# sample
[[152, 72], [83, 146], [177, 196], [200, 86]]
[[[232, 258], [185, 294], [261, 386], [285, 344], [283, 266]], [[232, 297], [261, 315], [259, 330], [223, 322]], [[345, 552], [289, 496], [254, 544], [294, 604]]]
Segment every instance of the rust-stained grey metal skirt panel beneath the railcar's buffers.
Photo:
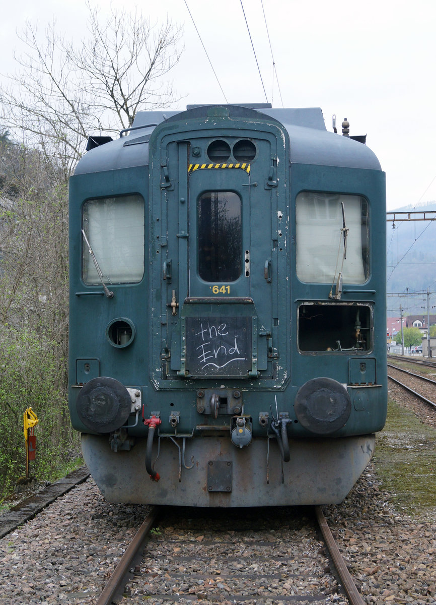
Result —
[[[86, 465], [109, 502], [173, 506], [286, 506], [342, 502], [371, 459], [375, 435], [290, 440], [282, 462], [275, 439], [236, 448], [230, 439], [182, 439], [153, 444], [158, 482], [146, 471], [146, 439], [130, 451], [111, 450], [107, 436], [82, 434]], [[269, 453], [268, 453], [269, 449]], [[180, 477], [180, 480], [179, 480]]]

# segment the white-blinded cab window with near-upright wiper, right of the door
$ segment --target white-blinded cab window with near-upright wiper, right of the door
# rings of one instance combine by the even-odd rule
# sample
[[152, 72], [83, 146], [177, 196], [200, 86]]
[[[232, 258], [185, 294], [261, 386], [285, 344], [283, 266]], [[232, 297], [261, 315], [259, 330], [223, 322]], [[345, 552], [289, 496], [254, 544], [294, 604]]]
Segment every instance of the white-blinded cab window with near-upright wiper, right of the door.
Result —
[[348, 284], [369, 275], [368, 202], [360, 195], [304, 191], [295, 200], [297, 276], [301, 281], [333, 283], [341, 271]]

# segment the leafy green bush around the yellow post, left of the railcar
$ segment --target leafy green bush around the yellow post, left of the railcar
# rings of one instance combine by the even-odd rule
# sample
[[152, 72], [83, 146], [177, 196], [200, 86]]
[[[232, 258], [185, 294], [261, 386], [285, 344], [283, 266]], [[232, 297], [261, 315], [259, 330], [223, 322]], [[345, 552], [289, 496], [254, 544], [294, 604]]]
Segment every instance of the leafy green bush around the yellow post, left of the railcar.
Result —
[[51, 481], [80, 456], [79, 437], [69, 422], [68, 403], [60, 392], [65, 359], [57, 359], [56, 342], [27, 329], [0, 325], [0, 499], [25, 476], [24, 412], [32, 408], [36, 460], [30, 474]]

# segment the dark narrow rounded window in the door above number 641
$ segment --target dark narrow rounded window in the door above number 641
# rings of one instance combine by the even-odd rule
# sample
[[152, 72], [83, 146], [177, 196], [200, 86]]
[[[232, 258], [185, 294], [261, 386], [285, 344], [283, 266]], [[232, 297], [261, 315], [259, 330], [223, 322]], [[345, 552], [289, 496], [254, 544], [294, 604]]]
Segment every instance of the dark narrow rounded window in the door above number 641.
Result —
[[208, 191], [197, 211], [200, 278], [236, 281], [242, 272], [241, 198], [232, 191]]

